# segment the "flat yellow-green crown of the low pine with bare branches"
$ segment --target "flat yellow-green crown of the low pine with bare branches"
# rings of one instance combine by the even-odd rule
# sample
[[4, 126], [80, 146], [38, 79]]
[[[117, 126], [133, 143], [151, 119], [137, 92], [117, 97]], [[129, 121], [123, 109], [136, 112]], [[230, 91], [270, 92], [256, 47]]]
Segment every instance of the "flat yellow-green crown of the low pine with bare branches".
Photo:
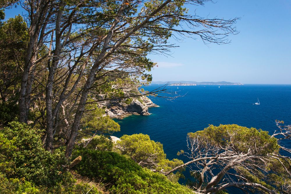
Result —
[[215, 146], [232, 146], [235, 152], [248, 152], [266, 155], [277, 152], [279, 146], [277, 139], [270, 137], [268, 131], [257, 130], [253, 127], [247, 128], [236, 124], [226, 124], [205, 128], [203, 131], [189, 133], [189, 138], [203, 138], [202, 143], [210, 143]]

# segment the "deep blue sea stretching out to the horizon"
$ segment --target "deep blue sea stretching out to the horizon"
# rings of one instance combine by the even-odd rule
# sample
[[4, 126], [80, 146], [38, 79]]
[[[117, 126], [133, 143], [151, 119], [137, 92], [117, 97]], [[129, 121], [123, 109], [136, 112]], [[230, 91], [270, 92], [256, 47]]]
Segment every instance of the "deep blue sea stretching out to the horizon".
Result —
[[[152, 91], [163, 84], [143, 87]], [[203, 130], [209, 124], [238, 124], [255, 127], [273, 134], [275, 120], [291, 124], [291, 85], [196, 85], [166, 86], [162, 97], [150, 97], [159, 107], [149, 108], [150, 115], [132, 115], [122, 120], [120, 132], [124, 134], [148, 134], [151, 140], [163, 144], [168, 159], [182, 159], [177, 152], [187, 150], [187, 133]], [[179, 96], [179, 97], [177, 97]], [[175, 99], [166, 97], [177, 97]], [[255, 103], [260, 101], [260, 105]], [[281, 142], [290, 147], [290, 143]], [[290, 147], [291, 148], [291, 147]], [[190, 177], [189, 170], [184, 172]], [[180, 179], [180, 183], [185, 183]]]

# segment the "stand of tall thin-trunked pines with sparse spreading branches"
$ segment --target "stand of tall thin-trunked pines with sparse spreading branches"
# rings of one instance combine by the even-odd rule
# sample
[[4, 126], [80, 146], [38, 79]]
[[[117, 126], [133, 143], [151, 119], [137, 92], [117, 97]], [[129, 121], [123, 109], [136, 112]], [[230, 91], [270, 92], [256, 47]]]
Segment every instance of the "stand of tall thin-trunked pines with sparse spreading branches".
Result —
[[167, 54], [175, 47], [171, 36], [226, 44], [237, 33], [237, 18], [209, 19], [188, 10], [207, 1], [3, 1], [6, 9], [18, 3], [24, 18], [1, 27], [1, 102], [16, 99], [18, 120], [45, 129], [50, 152], [55, 135], [62, 135], [69, 157], [86, 104], [100, 102], [99, 94], [126, 100], [164, 92], [129, 92], [124, 85], [152, 80], [155, 63], [148, 54]]

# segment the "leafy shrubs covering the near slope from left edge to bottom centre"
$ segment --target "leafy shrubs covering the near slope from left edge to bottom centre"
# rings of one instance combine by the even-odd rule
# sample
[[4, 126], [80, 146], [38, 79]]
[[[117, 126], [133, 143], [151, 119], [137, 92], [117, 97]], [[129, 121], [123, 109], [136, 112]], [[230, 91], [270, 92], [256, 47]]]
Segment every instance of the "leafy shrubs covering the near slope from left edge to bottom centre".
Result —
[[18, 122], [0, 130], [0, 193], [191, 193], [107, 146], [77, 147], [72, 159], [82, 160], [68, 171], [63, 147], [51, 154], [39, 133]]

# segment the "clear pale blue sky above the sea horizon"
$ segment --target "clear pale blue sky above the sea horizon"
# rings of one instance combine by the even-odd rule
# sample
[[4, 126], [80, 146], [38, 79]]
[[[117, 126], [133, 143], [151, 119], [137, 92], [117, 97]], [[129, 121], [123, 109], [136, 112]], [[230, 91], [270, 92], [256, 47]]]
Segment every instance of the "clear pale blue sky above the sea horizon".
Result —
[[[20, 7], [20, 6], [19, 6]], [[6, 19], [22, 15], [21, 8], [6, 11]], [[291, 1], [215, 0], [190, 7], [189, 13], [207, 18], [240, 17], [230, 44], [205, 45], [185, 38], [171, 56], [149, 55], [156, 62], [153, 81], [230, 81], [244, 84], [291, 84]]]

